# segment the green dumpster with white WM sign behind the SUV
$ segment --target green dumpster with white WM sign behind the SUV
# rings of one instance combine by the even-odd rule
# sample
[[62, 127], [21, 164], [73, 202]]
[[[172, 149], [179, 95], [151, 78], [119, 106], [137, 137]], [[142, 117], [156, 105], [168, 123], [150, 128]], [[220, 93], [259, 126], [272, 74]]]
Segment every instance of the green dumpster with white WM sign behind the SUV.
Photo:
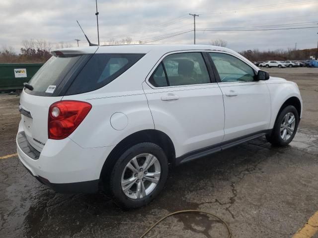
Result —
[[43, 63], [0, 63], [0, 91], [22, 89]]

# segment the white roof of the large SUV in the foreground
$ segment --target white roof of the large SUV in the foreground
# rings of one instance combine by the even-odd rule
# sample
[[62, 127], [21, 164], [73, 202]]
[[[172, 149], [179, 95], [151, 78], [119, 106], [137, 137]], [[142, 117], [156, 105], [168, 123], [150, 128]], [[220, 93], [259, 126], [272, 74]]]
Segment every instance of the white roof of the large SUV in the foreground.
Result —
[[112, 53], [112, 54], [147, 54], [152, 50], [171, 52], [171, 51], [185, 51], [185, 50], [208, 50], [208, 51], [223, 51], [233, 54], [236, 52], [219, 46], [211, 45], [180, 45], [180, 44], [135, 44], [135, 45], [107, 45], [107, 46], [90, 46], [90, 47], [72, 47], [65, 49], [58, 49], [52, 51], [52, 54], [61, 52], [63, 54], [92, 54], [92, 53]]

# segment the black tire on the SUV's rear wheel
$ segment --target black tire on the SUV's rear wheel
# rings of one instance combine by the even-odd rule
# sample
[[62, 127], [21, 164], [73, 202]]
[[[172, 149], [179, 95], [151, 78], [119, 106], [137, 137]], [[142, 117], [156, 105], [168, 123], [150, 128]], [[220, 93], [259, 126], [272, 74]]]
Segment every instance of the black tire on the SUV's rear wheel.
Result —
[[[143, 162], [145, 162], [147, 158], [154, 158], [151, 156], [154, 156], [157, 161], [147, 170], [142, 171], [141, 167], [145, 165]], [[133, 161], [135, 158], [137, 160], [137, 165], [134, 163], [135, 161]], [[150, 159], [150, 161], [151, 160], [152, 159]], [[134, 170], [136, 167], [139, 167], [139, 170], [133, 172], [133, 170], [130, 169], [131, 167], [127, 167], [128, 165], [132, 165]], [[145, 168], [147, 168], [147, 166]], [[157, 183], [148, 180], [149, 178], [154, 178], [155, 180], [155, 177], [147, 177], [147, 174], [158, 174], [158, 171], [160, 175], [159, 178], [156, 178], [158, 179]], [[109, 181], [110, 192], [115, 203], [120, 207], [124, 209], [140, 208], [147, 205], [159, 194], [164, 186], [167, 176], [168, 160], [162, 148], [150, 142], [139, 143], [124, 151], [114, 165]], [[135, 178], [137, 179], [136, 181]], [[126, 188], [131, 184], [133, 185], [127, 188], [125, 193], [125, 188], [122, 188], [122, 181], [128, 181], [128, 179], [132, 179], [132, 182], [129, 181]], [[143, 192], [138, 192], [138, 186]]]

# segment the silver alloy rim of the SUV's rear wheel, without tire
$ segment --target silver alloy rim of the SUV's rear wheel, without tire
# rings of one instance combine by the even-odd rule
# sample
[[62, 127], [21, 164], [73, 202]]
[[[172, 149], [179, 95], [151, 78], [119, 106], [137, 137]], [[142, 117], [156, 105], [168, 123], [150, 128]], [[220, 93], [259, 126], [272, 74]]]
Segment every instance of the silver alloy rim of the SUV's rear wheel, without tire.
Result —
[[156, 156], [145, 153], [135, 156], [126, 165], [121, 176], [121, 188], [131, 199], [149, 195], [160, 179], [160, 163]]

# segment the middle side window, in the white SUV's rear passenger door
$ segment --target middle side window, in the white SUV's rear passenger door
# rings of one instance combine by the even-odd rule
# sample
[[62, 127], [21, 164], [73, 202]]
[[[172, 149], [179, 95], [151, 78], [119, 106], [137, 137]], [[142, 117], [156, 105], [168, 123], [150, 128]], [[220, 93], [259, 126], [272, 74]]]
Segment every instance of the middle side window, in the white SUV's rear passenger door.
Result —
[[206, 64], [199, 52], [176, 53], [165, 57], [149, 82], [155, 87], [211, 83]]

